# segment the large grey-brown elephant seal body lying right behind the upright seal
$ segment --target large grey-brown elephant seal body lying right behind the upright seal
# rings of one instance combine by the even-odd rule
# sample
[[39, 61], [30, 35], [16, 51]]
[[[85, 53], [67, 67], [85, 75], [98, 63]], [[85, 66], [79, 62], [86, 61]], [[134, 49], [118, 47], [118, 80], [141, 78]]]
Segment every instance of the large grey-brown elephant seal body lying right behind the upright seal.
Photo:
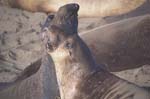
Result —
[[97, 63], [109, 71], [150, 64], [150, 14], [96, 27], [79, 34]]

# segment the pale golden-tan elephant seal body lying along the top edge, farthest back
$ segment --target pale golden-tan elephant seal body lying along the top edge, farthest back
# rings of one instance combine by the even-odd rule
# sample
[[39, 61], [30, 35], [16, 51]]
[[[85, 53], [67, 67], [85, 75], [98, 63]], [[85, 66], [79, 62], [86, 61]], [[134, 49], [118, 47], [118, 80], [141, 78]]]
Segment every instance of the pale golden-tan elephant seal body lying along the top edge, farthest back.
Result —
[[0, 0], [1, 5], [21, 8], [28, 11], [56, 12], [67, 3], [81, 6], [80, 16], [112, 16], [130, 12], [146, 0]]

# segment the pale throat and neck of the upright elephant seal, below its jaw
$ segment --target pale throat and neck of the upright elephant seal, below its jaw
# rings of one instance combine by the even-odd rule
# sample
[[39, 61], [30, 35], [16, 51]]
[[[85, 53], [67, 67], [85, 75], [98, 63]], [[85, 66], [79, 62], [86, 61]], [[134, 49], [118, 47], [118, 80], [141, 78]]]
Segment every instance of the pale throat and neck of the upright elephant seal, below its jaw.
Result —
[[77, 93], [76, 87], [82, 78], [96, 69], [88, 47], [79, 36], [75, 35], [75, 38], [77, 43], [72, 50], [72, 57], [68, 51], [60, 47], [49, 53], [55, 64], [61, 99], [72, 99]]

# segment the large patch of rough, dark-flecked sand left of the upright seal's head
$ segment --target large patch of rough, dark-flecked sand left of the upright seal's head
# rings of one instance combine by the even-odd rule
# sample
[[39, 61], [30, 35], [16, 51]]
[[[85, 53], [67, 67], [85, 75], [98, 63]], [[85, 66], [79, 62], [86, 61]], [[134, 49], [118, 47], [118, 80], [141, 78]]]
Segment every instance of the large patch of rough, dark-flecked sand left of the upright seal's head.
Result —
[[41, 57], [38, 33], [45, 18], [42, 13], [0, 7], [0, 80], [14, 78]]

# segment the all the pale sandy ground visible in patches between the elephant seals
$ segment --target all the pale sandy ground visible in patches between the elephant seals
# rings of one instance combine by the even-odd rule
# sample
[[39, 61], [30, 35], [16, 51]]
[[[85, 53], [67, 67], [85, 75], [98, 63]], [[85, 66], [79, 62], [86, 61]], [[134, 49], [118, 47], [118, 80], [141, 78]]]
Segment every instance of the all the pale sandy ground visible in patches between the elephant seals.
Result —
[[[150, 12], [149, 10], [141, 11], [142, 14]], [[79, 19], [79, 32], [134, 15], [138, 14], [129, 13], [107, 18], [81, 18]], [[46, 15], [43, 13], [30, 13], [0, 7], [0, 82], [12, 81], [25, 67], [42, 56], [38, 33], [45, 18]], [[150, 87], [149, 65], [114, 74], [140, 86]]]

